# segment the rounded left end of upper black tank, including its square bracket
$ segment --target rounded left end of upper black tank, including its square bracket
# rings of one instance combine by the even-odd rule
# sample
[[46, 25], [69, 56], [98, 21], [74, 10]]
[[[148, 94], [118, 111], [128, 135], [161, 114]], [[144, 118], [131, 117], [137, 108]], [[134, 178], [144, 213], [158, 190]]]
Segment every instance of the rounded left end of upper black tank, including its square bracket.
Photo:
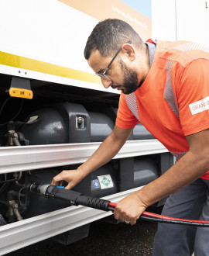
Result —
[[24, 125], [21, 132], [29, 145], [84, 143], [91, 141], [90, 118], [81, 104], [63, 102], [33, 112], [36, 123]]

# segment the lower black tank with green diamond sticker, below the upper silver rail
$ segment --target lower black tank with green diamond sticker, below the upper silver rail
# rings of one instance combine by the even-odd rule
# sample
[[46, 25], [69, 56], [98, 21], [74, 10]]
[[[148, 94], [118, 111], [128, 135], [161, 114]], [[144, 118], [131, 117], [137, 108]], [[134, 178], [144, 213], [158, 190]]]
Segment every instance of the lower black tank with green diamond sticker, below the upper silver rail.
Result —
[[[79, 165], [80, 164], [65, 166], [63, 169], [69, 171], [76, 170]], [[50, 184], [53, 177], [58, 175], [60, 171], [61, 170], [57, 170], [56, 168], [33, 170], [30, 171], [30, 175], [27, 175], [26, 181], [28, 183]], [[63, 182], [63, 186], [66, 185], [67, 182]], [[105, 164], [90, 175], [87, 175], [87, 177], [82, 179], [72, 190], [94, 197], [115, 194], [119, 192], [116, 170], [111, 167], [111, 164]], [[30, 193], [29, 206], [26, 212], [23, 213], [23, 216], [24, 218], [29, 218], [62, 209], [69, 205], [70, 203], [67, 204], [59, 200], [47, 199], [43, 196], [36, 195], [36, 193]]]

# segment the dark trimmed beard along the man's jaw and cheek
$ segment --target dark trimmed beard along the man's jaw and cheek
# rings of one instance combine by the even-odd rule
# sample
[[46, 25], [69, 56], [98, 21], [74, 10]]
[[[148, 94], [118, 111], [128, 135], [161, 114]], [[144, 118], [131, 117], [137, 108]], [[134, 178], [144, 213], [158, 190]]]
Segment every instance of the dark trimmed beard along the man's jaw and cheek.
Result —
[[122, 67], [122, 72], [124, 74], [122, 85], [124, 89], [122, 89], [122, 92], [124, 94], [130, 94], [132, 92], [135, 92], [135, 90], [139, 88], [136, 71], [133, 71], [130, 68], [128, 68], [122, 60], [120, 60], [119, 63]]

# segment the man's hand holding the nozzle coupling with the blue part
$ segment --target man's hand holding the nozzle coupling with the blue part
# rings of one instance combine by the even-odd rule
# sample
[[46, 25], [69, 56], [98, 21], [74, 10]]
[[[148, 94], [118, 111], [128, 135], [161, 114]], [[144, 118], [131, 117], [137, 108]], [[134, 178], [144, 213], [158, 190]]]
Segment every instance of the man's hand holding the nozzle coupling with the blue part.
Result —
[[51, 185], [62, 185], [63, 181], [66, 181], [68, 185], [65, 189], [73, 189], [78, 182], [81, 182], [82, 178], [80, 171], [62, 171], [59, 175], [53, 177]]

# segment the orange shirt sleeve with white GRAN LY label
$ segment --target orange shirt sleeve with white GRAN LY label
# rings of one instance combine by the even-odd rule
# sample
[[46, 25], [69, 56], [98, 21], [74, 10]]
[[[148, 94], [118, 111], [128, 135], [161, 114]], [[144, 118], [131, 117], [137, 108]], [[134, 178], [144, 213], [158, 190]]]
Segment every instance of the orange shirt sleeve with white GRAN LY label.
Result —
[[185, 136], [209, 128], [209, 61], [192, 61], [176, 88], [180, 123]]

